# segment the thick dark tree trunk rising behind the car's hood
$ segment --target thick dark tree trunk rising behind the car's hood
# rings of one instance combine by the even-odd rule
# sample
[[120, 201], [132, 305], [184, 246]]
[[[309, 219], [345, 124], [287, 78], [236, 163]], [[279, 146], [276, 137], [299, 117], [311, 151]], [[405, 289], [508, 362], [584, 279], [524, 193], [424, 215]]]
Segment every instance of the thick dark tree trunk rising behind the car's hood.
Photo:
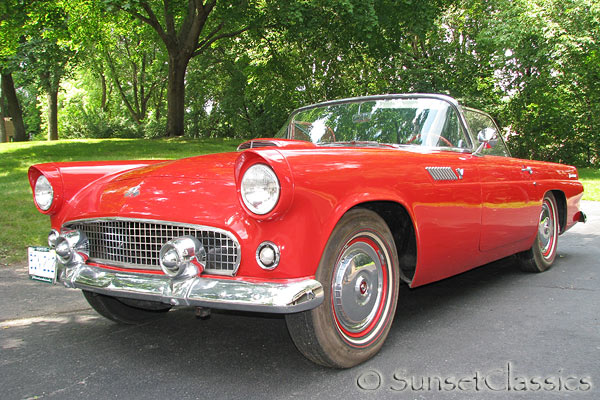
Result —
[[169, 56], [167, 83], [167, 136], [183, 136], [185, 115], [185, 71], [189, 57]]

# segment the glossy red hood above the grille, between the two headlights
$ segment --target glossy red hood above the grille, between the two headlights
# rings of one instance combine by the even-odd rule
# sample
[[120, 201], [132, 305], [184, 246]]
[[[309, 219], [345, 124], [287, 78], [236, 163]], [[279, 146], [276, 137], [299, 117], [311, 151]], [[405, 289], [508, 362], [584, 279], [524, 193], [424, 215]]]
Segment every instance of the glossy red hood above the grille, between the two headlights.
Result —
[[58, 220], [130, 217], [226, 225], [239, 210], [234, 163], [238, 153], [166, 161], [103, 177], [62, 207]]

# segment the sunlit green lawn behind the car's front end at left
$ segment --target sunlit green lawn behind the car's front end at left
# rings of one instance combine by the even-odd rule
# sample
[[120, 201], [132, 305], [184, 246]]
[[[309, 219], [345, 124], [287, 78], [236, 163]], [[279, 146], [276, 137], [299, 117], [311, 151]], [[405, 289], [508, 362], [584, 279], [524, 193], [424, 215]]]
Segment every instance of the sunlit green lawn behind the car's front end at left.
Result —
[[27, 170], [55, 161], [176, 159], [235, 151], [228, 139], [89, 139], [0, 144], [0, 266], [25, 261], [27, 246], [46, 245], [50, 219], [33, 205]]

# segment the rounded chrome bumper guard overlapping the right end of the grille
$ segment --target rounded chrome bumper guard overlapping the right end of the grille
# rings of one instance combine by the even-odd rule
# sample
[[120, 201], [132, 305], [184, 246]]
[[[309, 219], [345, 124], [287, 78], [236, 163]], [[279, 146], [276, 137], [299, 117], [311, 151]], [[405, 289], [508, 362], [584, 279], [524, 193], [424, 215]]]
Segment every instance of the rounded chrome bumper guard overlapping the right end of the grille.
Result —
[[195, 237], [182, 236], [165, 243], [159, 258], [160, 268], [167, 276], [191, 276], [204, 270], [206, 251]]

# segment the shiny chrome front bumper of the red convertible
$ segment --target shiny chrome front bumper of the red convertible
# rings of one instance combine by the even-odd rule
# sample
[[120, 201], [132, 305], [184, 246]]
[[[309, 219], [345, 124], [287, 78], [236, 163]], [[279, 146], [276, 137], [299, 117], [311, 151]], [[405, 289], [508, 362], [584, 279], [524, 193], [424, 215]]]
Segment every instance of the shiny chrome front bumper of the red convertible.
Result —
[[79, 263], [58, 268], [58, 280], [67, 287], [174, 306], [288, 314], [310, 310], [323, 302], [323, 286], [314, 279], [283, 283], [202, 277], [171, 279]]

